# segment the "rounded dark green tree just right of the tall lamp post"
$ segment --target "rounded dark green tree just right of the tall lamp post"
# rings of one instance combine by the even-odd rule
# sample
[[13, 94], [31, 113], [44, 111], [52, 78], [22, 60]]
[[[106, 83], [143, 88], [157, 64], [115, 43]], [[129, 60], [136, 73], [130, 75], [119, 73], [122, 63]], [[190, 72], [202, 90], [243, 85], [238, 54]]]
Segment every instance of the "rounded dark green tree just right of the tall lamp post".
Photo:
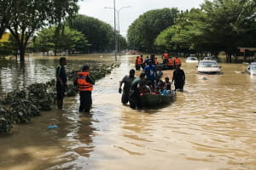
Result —
[[150, 10], [129, 26], [127, 38], [130, 48], [154, 52], [154, 39], [177, 18], [177, 8]]

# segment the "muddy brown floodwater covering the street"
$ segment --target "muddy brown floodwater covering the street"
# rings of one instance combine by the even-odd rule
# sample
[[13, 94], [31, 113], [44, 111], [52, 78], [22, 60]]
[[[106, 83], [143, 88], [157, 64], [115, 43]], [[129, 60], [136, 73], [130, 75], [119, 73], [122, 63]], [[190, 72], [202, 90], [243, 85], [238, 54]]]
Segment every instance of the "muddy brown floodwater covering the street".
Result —
[[[0, 169], [256, 169], [256, 77], [239, 72], [246, 65], [220, 64], [223, 74], [205, 76], [183, 62], [185, 92], [164, 108], [137, 111], [121, 105], [118, 94], [134, 57], [120, 60], [96, 82], [90, 116], [78, 113], [79, 96], [67, 98], [63, 111], [42, 112], [0, 137]], [[77, 68], [85, 62], [68, 61]], [[55, 63], [36, 57], [25, 69], [3, 68], [1, 93], [50, 80]], [[46, 128], [52, 124], [58, 128]]]

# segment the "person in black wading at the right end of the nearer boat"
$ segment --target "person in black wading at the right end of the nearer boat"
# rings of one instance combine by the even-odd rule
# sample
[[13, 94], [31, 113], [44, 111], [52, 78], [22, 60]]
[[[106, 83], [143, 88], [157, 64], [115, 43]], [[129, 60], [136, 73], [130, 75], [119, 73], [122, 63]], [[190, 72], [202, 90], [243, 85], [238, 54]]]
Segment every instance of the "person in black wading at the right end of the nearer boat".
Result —
[[173, 71], [172, 75], [172, 82], [174, 82], [175, 91], [178, 89], [179, 91], [183, 92], [185, 78], [186, 77], [184, 71], [180, 68], [180, 65], [177, 65], [177, 68], [175, 71]]

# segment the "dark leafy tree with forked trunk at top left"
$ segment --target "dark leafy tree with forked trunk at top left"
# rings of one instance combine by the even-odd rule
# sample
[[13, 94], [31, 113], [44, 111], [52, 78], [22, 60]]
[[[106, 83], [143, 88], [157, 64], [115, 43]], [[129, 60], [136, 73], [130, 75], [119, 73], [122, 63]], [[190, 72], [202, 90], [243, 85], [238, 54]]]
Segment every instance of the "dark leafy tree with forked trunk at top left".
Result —
[[12, 18], [7, 26], [19, 45], [20, 61], [24, 61], [26, 46], [35, 31], [48, 25], [61, 24], [65, 17], [78, 11], [78, 0], [9, 0]]

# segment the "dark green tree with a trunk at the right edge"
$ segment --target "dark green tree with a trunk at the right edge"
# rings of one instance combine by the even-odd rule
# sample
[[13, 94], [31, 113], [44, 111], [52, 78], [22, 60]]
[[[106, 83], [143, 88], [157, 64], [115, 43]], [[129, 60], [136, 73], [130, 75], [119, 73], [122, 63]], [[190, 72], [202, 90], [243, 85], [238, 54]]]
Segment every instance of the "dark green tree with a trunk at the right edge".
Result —
[[[224, 50], [230, 61], [231, 55], [240, 45], [255, 42], [256, 8], [254, 0], [214, 0], [206, 1], [201, 9], [207, 14], [208, 41]], [[246, 43], [245, 43], [246, 42]]]

